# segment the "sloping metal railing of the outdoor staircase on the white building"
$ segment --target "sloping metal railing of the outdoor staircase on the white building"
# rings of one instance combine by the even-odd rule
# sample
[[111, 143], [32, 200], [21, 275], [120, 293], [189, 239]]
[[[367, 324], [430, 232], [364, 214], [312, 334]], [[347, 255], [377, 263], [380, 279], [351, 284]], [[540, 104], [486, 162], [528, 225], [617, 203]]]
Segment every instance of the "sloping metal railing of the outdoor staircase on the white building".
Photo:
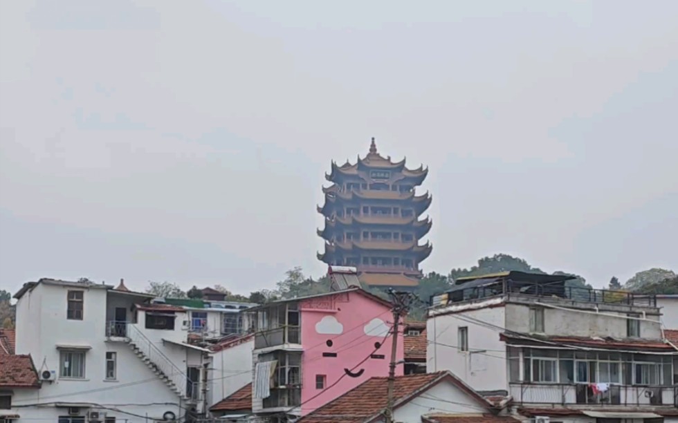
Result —
[[[127, 338], [129, 343], [133, 344], [140, 350], [140, 352], [149, 359], [150, 363], [165, 377], [170, 379], [170, 382], [176, 386], [182, 395], [185, 395], [192, 400], [198, 400], [200, 397], [199, 382], [189, 382], [189, 379], [180, 368], [172, 362], [163, 352], [155, 346], [155, 344], [143, 334], [136, 325], [127, 323]], [[193, 386], [189, 386], [192, 384]]]

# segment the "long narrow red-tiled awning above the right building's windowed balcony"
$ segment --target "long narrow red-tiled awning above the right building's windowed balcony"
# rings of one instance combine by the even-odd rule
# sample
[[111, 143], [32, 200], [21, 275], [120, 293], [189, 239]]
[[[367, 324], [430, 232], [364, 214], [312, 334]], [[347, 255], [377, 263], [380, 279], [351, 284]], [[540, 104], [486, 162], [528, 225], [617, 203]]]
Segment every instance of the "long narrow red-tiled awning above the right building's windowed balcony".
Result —
[[670, 350], [675, 351], [675, 348], [663, 341], [657, 339], [638, 339], [638, 338], [612, 338], [612, 337], [542, 337], [538, 335], [529, 335], [523, 337], [521, 335], [511, 335], [507, 333], [500, 334], [500, 339], [517, 339], [526, 341], [528, 343], [549, 344], [556, 343], [558, 346], [572, 345], [572, 346], [591, 346], [604, 348], [626, 348], [632, 350]]

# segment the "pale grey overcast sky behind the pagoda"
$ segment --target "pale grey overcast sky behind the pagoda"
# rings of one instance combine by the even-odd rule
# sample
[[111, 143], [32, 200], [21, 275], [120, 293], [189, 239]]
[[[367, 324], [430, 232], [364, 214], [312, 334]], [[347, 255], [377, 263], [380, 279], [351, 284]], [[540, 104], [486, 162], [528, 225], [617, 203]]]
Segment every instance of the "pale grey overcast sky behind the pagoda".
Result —
[[425, 271], [678, 270], [677, 21], [678, 1], [3, 1], [0, 287], [320, 275], [324, 172], [372, 136], [430, 167]]

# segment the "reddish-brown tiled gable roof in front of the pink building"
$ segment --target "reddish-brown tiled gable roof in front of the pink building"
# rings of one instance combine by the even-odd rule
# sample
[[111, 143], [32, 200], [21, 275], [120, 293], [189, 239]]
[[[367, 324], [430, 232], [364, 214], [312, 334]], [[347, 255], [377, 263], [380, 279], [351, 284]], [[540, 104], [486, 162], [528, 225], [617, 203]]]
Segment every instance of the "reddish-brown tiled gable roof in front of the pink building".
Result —
[[[425, 388], [437, 384], [443, 379], [457, 385], [462, 391], [488, 407], [491, 406], [477, 392], [473, 391], [468, 385], [461, 382], [449, 372], [426, 373], [423, 375], [407, 375], [396, 377], [394, 384], [394, 404], [406, 402], [415, 397], [417, 393]], [[298, 423], [359, 423], [372, 420], [378, 417], [379, 413], [386, 407], [387, 397], [387, 378], [372, 377], [363, 384], [356, 386], [344, 395], [325, 404], [324, 406], [309, 413]]]

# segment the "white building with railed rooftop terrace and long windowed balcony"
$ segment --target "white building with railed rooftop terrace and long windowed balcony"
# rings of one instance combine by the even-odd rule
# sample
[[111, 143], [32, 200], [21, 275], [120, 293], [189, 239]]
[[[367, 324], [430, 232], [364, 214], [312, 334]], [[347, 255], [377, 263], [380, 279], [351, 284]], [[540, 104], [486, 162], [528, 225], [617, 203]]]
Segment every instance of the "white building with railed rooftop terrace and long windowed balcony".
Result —
[[569, 288], [567, 279], [457, 280], [429, 310], [428, 372], [504, 391], [517, 412], [552, 422], [678, 421], [678, 350], [663, 338], [654, 297]]

